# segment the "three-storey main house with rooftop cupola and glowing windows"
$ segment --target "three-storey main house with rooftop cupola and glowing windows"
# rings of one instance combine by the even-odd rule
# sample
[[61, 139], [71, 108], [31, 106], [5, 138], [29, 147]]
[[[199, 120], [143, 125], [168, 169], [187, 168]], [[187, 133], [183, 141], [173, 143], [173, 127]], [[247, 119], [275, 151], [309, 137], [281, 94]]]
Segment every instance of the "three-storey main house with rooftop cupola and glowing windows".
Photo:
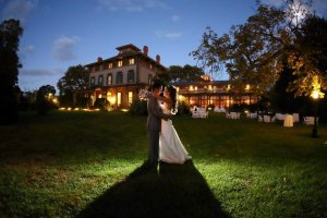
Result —
[[98, 58], [85, 65], [90, 70], [90, 105], [96, 99], [105, 99], [111, 109], [129, 108], [133, 99], [138, 98], [141, 88], [149, 86], [157, 73], [167, 71], [159, 55], [156, 60], [148, 57], [147, 46], [143, 51], [132, 44], [117, 50], [118, 55], [112, 58]]

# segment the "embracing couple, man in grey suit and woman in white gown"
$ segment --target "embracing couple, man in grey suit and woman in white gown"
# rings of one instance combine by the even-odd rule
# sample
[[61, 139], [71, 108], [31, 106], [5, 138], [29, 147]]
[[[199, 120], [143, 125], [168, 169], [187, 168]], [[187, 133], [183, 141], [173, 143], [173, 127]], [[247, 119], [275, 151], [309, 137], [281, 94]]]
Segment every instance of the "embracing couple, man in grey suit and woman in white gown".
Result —
[[[160, 92], [164, 89], [164, 96]], [[177, 112], [177, 89], [154, 82], [152, 94], [147, 101], [147, 131], [149, 164], [157, 166], [158, 161], [168, 164], [184, 164], [191, 159], [175, 132], [171, 117]]]

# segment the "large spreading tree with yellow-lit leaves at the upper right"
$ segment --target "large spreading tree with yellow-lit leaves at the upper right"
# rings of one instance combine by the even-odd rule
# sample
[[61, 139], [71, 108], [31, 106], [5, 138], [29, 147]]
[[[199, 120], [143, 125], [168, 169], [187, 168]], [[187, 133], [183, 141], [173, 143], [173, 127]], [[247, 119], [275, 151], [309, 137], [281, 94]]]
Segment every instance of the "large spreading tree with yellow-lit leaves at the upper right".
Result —
[[[221, 37], [208, 27], [199, 47], [191, 55], [198, 60], [203, 69], [218, 72], [226, 66], [231, 81], [237, 85], [244, 82], [255, 84], [254, 90], [257, 93], [266, 92], [274, 85], [282, 72], [287, 57], [288, 68], [299, 75], [299, 85], [294, 86], [298, 88], [295, 94], [308, 95], [313, 88], [313, 77], [316, 80], [318, 76], [320, 81], [326, 74], [324, 70], [317, 70], [322, 62], [310, 58], [315, 47], [307, 45], [306, 49], [303, 48], [308, 39], [305, 28], [311, 24], [311, 17], [315, 16], [306, 10], [311, 1], [284, 2], [281, 8], [258, 2], [256, 13], [250, 16], [245, 24], [232, 26], [230, 33]], [[313, 25], [319, 29], [319, 34], [310, 36], [323, 44], [326, 27], [325, 22], [322, 23]], [[312, 29], [311, 33], [315, 31]], [[325, 60], [325, 55], [315, 53], [316, 59]]]

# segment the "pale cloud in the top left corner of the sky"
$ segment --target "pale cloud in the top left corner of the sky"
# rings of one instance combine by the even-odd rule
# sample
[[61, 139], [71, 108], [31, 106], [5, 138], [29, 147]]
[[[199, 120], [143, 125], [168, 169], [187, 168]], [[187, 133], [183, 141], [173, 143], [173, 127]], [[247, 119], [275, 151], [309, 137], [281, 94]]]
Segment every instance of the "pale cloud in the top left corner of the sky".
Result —
[[0, 11], [1, 17], [3, 20], [17, 19], [24, 23], [37, 3], [37, 0], [9, 0]]

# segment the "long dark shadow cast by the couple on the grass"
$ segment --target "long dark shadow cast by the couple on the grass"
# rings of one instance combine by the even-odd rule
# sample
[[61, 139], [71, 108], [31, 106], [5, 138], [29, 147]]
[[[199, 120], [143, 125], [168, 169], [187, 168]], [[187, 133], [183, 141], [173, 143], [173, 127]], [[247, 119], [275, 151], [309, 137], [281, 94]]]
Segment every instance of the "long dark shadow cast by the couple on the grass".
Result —
[[230, 217], [215, 198], [192, 161], [160, 164], [159, 172], [145, 162], [124, 181], [90, 203], [84, 217]]

